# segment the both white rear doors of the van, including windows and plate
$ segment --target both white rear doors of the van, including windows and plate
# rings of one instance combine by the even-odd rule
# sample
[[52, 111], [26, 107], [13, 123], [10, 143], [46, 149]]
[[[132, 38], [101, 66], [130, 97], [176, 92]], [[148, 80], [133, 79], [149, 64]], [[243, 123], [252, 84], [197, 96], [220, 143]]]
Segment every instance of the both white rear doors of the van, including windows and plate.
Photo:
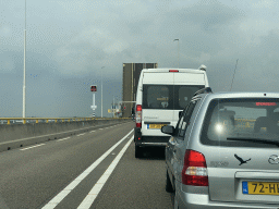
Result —
[[205, 74], [186, 72], [145, 72], [143, 75], [143, 136], [166, 136], [162, 125], [177, 125], [179, 111], [205, 87]]

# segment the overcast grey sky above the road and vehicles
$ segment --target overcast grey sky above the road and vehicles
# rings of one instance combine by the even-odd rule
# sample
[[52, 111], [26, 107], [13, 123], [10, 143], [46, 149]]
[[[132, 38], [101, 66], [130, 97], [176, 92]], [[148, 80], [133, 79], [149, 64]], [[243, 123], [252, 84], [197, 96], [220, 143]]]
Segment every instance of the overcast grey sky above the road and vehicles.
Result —
[[[122, 63], [207, 66], [214, 91], [278, 91], [276, 0], [27, 0], [26, 116], [104, 116]], [[0, 116], [22, 116], [25, 0], [0, 1]]]

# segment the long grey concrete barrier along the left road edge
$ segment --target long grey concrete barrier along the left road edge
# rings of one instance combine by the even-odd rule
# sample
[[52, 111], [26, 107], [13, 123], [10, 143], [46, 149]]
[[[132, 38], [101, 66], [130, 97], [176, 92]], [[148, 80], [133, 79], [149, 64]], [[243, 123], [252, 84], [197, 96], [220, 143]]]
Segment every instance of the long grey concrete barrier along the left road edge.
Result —
[[71, 135], [106, 127], [131, 121], [122, 120], [94, 120], [94, 121], [73, 121], [63, 123], [29, 123], [0, 125], [0, 151], [15, 149], [28, 145], [59, 139]]

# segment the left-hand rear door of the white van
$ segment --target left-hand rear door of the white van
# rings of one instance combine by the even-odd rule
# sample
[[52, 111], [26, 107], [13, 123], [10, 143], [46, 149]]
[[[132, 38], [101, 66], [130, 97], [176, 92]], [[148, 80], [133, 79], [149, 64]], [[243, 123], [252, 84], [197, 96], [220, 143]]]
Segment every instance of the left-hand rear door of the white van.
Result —
[[173, 121], [173, 73], [145, 72], [143, 75], [142, 134], [166, 136], [162, 125]]

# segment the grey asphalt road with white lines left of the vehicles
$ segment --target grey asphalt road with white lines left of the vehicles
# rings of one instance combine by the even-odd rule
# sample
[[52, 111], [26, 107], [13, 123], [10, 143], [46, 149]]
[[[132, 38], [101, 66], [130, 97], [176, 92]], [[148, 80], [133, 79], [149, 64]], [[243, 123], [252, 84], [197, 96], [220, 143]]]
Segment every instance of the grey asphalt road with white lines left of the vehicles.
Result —
[[0, 209], [172, 208], [163, 149], [135, 159], [134, 122], [0, 152]]

